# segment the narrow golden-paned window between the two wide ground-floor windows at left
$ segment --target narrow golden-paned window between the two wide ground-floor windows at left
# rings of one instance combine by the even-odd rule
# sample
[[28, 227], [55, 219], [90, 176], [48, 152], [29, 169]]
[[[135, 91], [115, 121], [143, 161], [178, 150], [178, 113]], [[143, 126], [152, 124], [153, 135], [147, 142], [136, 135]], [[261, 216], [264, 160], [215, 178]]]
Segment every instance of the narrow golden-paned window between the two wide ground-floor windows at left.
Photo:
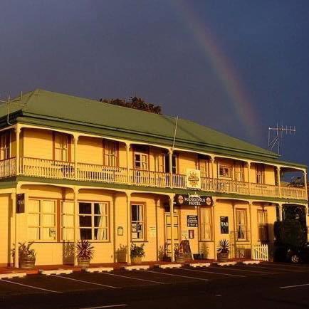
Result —
[[73, 201], [61, 202], [61, 228], [62, 239], [71, 241], [74, 239], [74, 203]]

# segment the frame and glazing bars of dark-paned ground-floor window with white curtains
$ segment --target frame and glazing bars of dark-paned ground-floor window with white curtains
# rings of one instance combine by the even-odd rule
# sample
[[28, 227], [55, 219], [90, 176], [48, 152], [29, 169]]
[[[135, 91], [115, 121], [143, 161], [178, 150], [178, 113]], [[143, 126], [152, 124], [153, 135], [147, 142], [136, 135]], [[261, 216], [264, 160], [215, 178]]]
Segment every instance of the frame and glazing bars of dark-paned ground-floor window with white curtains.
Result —
[[[91, 214], [80, 214], [80, 203], [91, 204]], [[94, 212], [94, 205], [95, 204], [105, 204], [106, 206], [106, 214], [95, 214]], [[78, 240], [81, 240], [80, 237], [80, 229], [90, 229], [91, 230], [91, 239], [88, 241], [91, 242], [101, 242], [101, 243], [108, 243], [110, 242], [110, 202], [109, 201], [78, 201]], [[91, 226], [80, 226], [80, 216], [90, 216], [91, 217]], [[100, 228], [95, 226], [95, 217], [102, 217], [106, 220], [106, 227]], [[102, 229], [106, 231], [106, 239], [95, 239], [95, 229]]]

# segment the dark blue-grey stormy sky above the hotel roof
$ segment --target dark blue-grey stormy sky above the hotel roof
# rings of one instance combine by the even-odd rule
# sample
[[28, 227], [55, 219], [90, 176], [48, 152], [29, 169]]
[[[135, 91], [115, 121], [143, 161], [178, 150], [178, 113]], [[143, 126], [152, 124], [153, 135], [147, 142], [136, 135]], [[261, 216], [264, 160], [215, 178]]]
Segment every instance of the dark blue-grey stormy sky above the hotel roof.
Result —
[[308, 0], [0, 0], [0, 95], [137, 95], [309, 164]]

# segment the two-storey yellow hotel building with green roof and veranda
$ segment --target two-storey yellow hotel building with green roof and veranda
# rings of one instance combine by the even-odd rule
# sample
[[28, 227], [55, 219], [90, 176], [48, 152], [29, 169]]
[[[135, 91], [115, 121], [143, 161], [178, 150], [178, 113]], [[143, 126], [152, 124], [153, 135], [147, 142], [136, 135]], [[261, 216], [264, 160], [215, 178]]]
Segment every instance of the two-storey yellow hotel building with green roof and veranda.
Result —
[[130, 263], [131, 243], [145, 243], [145, 261], [174, 261], [182, 240], [216, 259], [228, 239], [230, 258], [250, 258], [286, 204], [308, 221], [305, 166], [194, 122], [44, 90], [0, 113], [0, 265], [18, 266], [24, 241], [37, 265], [73, 264], [79, 239], [92, 263]]

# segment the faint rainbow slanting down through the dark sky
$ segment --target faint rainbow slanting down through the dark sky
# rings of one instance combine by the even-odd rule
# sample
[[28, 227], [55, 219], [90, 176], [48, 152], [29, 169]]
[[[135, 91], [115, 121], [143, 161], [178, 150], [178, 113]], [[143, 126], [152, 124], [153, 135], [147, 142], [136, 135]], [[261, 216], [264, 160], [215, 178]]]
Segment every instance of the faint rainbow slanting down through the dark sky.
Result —
[[224, 52], [219, 48], [219, 43], [211, 35], [211, 30], [204, 21], [189, 6], [190, 1], [176, 0], [173, 3], [182, 15], [194, 38], [199, 43], [210, 62], [214, 73], [224, 86], [226, 94], [231, 99], [236, 117], [246, 128], [248, 135], [253, 140], [258, 140], [257, 112], [248, 100], [246, 90], [237, 78], [236, 71]]

